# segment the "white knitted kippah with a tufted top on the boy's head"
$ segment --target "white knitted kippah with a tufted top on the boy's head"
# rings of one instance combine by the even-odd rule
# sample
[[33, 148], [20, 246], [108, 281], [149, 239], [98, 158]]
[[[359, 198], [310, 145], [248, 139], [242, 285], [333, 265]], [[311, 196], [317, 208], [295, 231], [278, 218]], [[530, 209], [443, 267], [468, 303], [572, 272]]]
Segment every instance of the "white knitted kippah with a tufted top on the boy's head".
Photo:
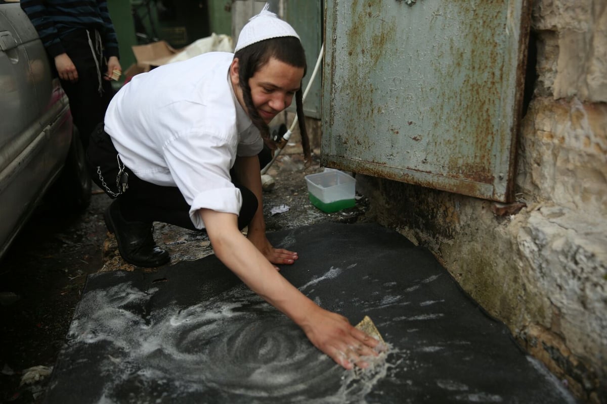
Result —
[[297, 35], [288, 22], [282, 21], [276, 14], [268, 11], [268, 8], [270, 8], [270, 4], [266, 3], [263, 6], [263, 10], [258, 15], [249, 19], [249, 22], [242, 27], [234, 53], [265, 39], [279, 38], [281, 36], [294, 36], [300, 39], [299, 35]]

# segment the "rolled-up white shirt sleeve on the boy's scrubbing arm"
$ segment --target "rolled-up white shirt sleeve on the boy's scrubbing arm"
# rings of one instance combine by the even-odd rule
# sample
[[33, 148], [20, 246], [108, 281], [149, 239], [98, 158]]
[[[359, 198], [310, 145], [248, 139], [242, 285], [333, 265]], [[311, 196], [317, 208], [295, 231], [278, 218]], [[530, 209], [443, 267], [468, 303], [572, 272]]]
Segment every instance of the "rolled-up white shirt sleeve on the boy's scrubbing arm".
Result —
[[236, 142], [209, 133], [183, 134], [164, 145], [164, 159], [190, 205], [189, 216], [195, 228], [205, 228], [197, 214], [200, 209], [239, 214], [242, 195], [229, 174], [236, 148]]

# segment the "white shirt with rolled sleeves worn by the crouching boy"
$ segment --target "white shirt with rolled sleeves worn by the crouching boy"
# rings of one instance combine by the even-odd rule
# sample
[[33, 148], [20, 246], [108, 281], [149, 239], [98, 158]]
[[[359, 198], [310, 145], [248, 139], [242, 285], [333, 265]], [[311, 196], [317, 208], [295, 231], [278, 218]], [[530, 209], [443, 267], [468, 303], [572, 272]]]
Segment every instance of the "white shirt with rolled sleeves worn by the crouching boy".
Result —
[[105, 130], [124, 165], [156, 185], [178, 187], [196, 228], [201, 208], [239, 214], [229, 170], [256, 156], [259, 130], [234, 95], [234, 55], [211, 52], [134, 76], [107, 107]]

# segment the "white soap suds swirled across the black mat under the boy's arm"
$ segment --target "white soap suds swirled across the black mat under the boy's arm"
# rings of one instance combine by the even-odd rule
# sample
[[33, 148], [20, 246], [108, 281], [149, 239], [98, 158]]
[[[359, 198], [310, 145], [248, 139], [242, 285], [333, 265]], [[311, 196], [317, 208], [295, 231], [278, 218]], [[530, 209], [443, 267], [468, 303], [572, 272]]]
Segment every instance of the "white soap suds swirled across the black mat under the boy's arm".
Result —
[[123, 284], [81, 300], [70, 345], [109, 346], [99, 364], [101, 374], [112, 375], [103, 402], [133, 385], [141, 386], [140, 399], [161, 390], [172, 396], [214, 392], [231, 402], [364, 402], [386, 374], [385, 361], [366, 379], [345, 371], [244, 286], [198, 305], [137, 316], [134, 307], [146, 306], [153, 295]]

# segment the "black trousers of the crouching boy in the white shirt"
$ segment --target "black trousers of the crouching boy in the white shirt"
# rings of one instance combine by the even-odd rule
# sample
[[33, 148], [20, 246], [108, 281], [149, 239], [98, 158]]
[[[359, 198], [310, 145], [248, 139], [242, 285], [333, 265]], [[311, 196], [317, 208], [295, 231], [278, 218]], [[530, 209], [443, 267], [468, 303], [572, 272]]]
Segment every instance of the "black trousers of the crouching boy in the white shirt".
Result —
[[[266, 152], [263, 159], [267, 159]], [[120, 212], [130, 222], [163, 222], [190, 230], [197, 230], [189, 217], [190, 205], [177, 187], [163, 187], [137, 177], [128, 167], [124, 171], [129, 176], [129, 187], [124, 193], [118, 191], [117, 178], [120, 171], [118, 152], [109, 134], [99, 124], [90, 135], [87, 162], [93, 182], [117, 199]], [[261, 157], [260, 157], [261, 158]], [[267, 164], [267, 162], [266, 162]], [[232, 177], [233, 178], [233, 177]], [[232, 181], [234, 182], [234, 181]], [[245, 228], [257, 211], [259, 201], [255, 194], [241, 184], [234, 183], [242, 194], [242, 207], [238, 217], [238, 227]]]

